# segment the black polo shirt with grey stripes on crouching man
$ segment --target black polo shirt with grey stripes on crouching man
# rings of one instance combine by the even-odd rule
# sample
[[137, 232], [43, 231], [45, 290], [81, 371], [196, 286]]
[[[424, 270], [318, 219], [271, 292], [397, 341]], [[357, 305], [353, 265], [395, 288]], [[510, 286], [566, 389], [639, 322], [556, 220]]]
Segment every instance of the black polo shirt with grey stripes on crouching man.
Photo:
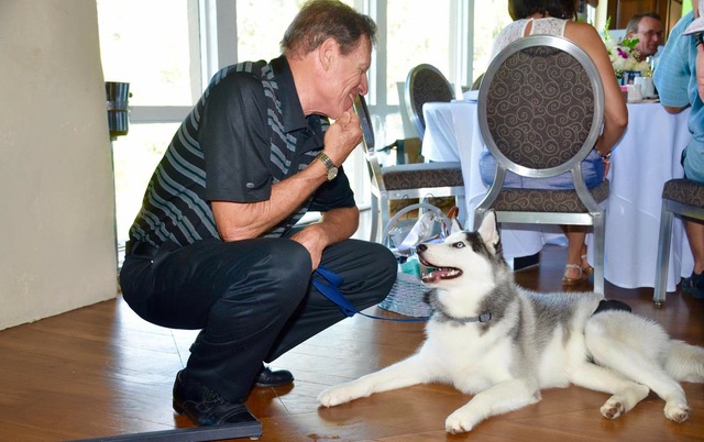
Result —
[[[221, 69], [174, 135], [144, 194], [130, 243], [158, 247], [220, 239], [210, 201], [258, 202], [272, 185], [305, 169], [329, 125], [306, 117], [284, 56]], [[282, 236], [308, 211], [353, 207], [340, 169], [263, 236]]]

